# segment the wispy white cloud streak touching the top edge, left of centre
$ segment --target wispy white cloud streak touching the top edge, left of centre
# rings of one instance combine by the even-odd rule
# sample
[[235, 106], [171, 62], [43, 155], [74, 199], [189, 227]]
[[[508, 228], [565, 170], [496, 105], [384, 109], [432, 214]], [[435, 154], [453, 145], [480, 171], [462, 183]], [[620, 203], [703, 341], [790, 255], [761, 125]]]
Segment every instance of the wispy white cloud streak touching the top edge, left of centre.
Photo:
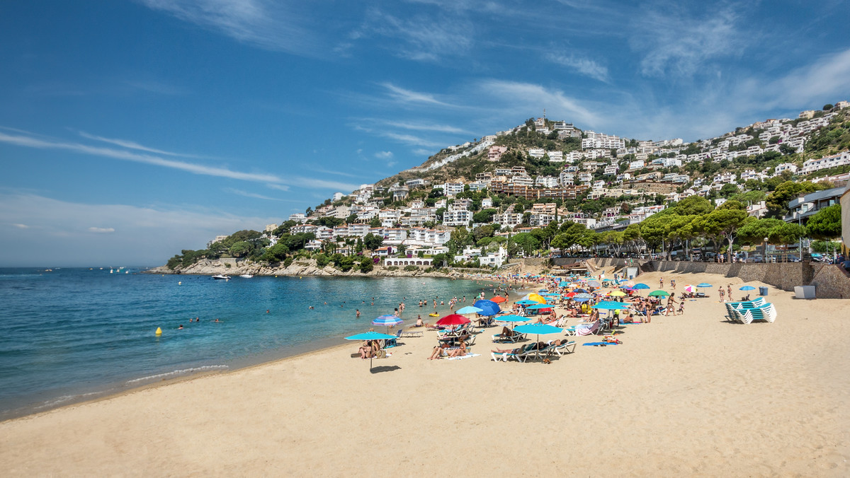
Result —
[[195, 25], [259, 48], [302, 55], [319, 53], [309, 17], [296, 3], [271, 0], [138, 0]]

